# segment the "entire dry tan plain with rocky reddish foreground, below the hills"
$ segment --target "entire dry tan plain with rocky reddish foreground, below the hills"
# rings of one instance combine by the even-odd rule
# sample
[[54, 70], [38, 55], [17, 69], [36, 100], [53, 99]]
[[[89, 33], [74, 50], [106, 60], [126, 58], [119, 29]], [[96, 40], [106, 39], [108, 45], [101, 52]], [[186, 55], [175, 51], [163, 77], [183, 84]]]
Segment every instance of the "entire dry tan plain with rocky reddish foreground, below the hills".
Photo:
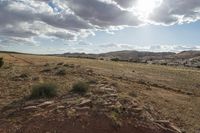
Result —
[[[0, 57], [2, 133], [200, 131], [198, 68], [9, 52]], [[77, 84], [83, 90], [74, 90]], [[37, 85], [55, 85], [57, 93], [34, 97]]]

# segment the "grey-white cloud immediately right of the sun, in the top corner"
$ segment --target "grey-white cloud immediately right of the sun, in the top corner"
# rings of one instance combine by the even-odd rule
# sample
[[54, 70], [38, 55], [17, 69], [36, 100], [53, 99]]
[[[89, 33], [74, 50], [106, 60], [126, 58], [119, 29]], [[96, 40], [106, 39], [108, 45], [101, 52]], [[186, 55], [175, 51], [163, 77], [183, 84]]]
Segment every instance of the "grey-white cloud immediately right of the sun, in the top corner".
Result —
[[199, 0], [163, 0], [149, 18], [155, 24], [172, 25], [200, 19]]

